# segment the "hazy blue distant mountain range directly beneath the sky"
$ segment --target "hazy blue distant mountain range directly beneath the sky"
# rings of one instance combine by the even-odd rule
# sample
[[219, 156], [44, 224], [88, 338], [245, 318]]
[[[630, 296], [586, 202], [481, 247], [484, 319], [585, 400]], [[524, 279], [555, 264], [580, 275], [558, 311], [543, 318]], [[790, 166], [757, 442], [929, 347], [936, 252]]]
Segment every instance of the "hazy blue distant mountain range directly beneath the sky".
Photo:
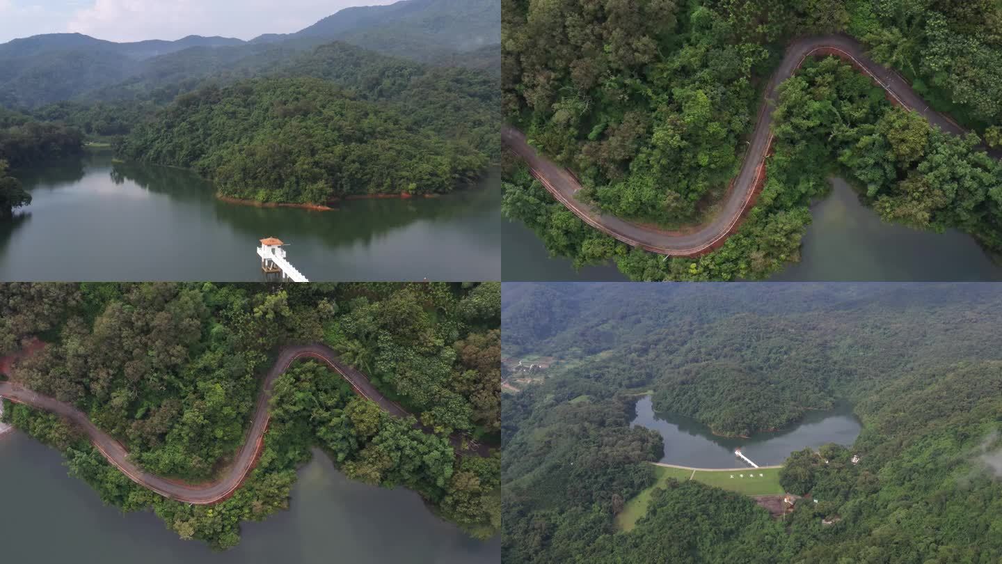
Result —
[[[32, 108], [97, 90], [104, 99], [159, 87], [164, 88], [161, 96], [172, 96], [205, 76], [246, 76], [333, 40], [497, 74], [500, 35], [500, 0], [406, 0], [346, 8], [296, 33], [249, 42], [190, 35], [115, 43], [79, 33], [35, 35], [0, 44], [0, 105]], [[123, 83], [123, 96], [109, 91]]]

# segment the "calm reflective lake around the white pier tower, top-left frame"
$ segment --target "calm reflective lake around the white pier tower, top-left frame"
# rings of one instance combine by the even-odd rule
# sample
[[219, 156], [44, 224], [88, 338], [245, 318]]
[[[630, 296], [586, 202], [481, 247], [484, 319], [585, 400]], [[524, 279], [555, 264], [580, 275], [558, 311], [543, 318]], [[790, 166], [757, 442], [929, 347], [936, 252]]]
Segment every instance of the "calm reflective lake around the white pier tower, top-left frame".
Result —
[[34, 199], [0, 223], [0, 280], [263, 279], [265, 237], [313, 281], [498, 280], [500, 178], [439, 198], [337, 211], [226, 204], [190, 171], [65, 160], [16, 176]]

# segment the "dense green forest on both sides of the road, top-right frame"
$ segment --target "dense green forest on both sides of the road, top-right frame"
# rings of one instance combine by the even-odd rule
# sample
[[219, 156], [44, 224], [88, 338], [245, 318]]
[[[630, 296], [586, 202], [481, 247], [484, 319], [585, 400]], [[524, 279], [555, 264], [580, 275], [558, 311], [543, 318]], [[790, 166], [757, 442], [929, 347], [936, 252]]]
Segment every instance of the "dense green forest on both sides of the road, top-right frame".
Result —
[[[765, 81], [791, 37], [843, 32], [931, 105], [973, 128], [960, 139], [895, 109], [836, 61], [784, 85], [768, 185], [736, 234], [696, 259], [632, 250], [595, 232], [505, 167], [504, 212], [575, 265], [612, 259], [637, 280], [758, 279], [799, 257], [809, 205], [841, 176], [887, 221], [958, 228], [1002, 252], [1002, 6], [994, 0], [700, 0], [596, 5], [502, 2], [507, 118], [571, 168], [602, 210], [668, 228], [698, 224], [736, 174]], [[979, 62], [980, 61], [980, 62]], [[964, 166], [949, 169], [955, 161]]]

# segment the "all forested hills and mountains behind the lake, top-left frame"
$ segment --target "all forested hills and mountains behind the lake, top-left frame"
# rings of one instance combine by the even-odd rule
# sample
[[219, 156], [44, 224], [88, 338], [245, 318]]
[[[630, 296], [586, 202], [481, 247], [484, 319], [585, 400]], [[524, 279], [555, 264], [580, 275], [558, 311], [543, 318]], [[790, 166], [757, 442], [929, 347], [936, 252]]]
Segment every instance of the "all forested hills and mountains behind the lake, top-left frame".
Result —
[[409, 0], [249, 42], [39, 35], [0, 45], [0, 106], [221, 196], [445, 193], [499, 160], [498, 19], [497, 0]]

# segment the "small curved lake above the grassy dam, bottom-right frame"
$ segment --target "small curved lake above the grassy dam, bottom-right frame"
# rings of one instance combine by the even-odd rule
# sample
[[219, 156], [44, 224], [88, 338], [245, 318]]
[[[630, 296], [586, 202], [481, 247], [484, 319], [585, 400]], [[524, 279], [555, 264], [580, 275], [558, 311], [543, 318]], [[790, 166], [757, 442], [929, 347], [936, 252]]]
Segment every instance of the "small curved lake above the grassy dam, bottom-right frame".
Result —
[[795, 451], [818, 449], [828, 443], [852, 446], [863, 427], [848, 405], [826, 411], [808, 411], [783, 431], [757, 433], [748, 439], [717, 437], [695, 419], [655, 413], [651, 398], [636, 402], [632, 426], [656, 431], [664, 438], [664, 456], [658, 462], [693, 468], [741, 468], [734, 449], [759, 466], [782, 465]]

